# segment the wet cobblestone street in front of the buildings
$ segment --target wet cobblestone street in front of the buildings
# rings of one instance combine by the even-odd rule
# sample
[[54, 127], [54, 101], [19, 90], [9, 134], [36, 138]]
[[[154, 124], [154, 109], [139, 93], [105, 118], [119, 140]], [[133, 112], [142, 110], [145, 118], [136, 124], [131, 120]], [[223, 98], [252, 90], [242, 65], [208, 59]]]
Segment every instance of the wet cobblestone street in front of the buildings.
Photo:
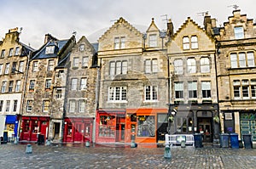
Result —
[[172, 148], [172, 160], [164, 148], [130, 148], [32, 144], [0, 145], [0, 168], [256, 168], [256, 149], [191, 147]]

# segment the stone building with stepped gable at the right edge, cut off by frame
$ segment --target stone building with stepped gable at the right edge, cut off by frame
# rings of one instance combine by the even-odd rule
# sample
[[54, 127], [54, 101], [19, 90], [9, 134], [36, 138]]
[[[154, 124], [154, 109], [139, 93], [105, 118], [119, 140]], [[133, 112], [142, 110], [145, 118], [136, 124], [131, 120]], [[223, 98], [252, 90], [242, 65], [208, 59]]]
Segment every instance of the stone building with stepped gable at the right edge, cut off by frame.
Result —
[[[256, 27], [241, 10], [212, 32], [217, 39], [218, 98], [222, 132], [252, 134], [256, 141]], [[215, 31], [214, 31], [215, 30]]]

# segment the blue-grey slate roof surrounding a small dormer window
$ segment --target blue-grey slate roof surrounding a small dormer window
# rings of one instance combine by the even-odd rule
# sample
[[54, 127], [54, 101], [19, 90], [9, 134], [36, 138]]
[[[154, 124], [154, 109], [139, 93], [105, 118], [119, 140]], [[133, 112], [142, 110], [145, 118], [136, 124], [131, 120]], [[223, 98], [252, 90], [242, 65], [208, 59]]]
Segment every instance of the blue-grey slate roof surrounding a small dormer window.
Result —
[[[58, 53], [61, 51], [61, 48], [65, 46], [65, 44], [68, 42], [68, 39], [66, 40], [60, 40], [60, 41], [49, 41], [47, 42], [43, 48], [41, 48], [40, 51], [38, 51], [37, 54], [33, 56], [32, 59], [47, 59], [47, 58], [55, 58], [57, 57]], [[55, 46], [55, 52], [54, 54], [45, 54], [46, 47], [48, 46]]]

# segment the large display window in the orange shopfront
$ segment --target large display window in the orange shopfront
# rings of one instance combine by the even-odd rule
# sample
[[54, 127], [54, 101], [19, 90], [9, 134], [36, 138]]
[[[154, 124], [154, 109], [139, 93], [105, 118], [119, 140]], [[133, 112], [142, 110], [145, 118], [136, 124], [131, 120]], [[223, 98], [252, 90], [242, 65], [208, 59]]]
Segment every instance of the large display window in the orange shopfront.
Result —
[[154, 115], [138, 115], [137, 137], [154, 137]]

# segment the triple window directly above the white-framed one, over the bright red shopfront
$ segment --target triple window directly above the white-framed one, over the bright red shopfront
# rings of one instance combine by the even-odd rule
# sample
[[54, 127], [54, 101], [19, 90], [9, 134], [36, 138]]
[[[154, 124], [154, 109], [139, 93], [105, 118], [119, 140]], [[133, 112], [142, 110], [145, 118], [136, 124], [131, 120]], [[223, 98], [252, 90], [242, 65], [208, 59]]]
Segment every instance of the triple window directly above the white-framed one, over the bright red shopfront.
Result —
[[127, 74], [127, 61], [116, 61], [109, 63], [109, 75]]

